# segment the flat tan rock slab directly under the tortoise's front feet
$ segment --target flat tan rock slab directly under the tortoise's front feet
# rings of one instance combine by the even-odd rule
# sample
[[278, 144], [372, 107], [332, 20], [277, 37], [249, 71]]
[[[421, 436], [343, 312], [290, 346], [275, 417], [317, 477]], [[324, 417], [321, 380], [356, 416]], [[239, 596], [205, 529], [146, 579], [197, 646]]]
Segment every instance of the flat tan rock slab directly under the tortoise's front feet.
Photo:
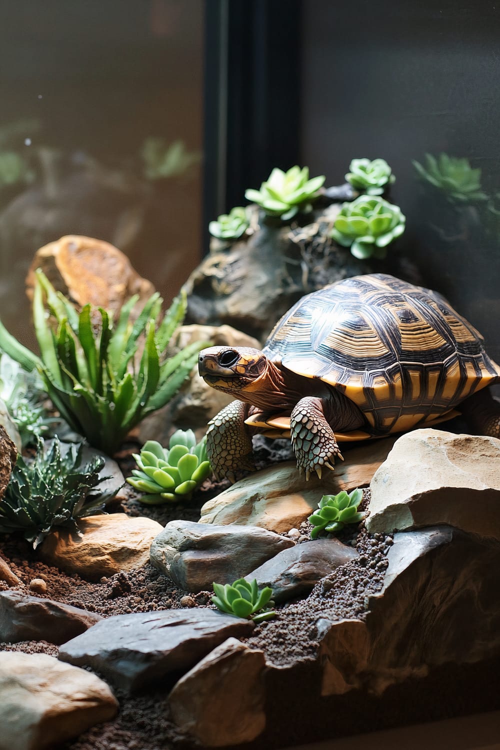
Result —
[[321, 496], [367, 487], [394, 444], [392, 438], [372, 440], [345, 452], [335, 471], [306, 481], [295, 463], [285, 462], [237, 481], [205, 502], [200, 523], [240, 523], [283, 533], [298, 527], [316, 509]]

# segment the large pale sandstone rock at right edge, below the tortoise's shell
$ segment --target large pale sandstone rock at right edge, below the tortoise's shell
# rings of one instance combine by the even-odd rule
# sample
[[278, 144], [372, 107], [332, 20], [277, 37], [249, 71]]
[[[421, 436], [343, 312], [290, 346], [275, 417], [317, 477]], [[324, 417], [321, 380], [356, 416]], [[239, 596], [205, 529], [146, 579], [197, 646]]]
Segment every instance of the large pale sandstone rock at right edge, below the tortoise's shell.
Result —
[[415, 430], [400, 437], [370, 484], [367, 529], [449, 523], [500, 539], [500, 440]]

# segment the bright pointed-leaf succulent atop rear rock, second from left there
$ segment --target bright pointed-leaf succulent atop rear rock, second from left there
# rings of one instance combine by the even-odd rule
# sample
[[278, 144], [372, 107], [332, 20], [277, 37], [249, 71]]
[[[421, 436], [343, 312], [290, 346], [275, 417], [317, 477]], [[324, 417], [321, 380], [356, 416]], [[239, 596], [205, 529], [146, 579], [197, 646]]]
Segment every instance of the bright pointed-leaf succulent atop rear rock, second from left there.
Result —
[[325, 182], [325, 175], [309, 178], [309, 168], [292, 166], [288, 172], [273, 169], [260, 190], [246, 190], [245, 198], [257, 203], [269, 216], [283, 221], [292, 219], [298, 211], [311, 211], [311, 201]]

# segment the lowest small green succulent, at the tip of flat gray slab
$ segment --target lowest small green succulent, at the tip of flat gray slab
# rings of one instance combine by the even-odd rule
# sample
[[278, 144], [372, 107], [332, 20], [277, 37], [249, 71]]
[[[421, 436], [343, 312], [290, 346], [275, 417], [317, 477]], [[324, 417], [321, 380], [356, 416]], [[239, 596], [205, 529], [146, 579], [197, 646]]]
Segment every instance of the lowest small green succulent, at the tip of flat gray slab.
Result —
[[267, 606], [274, 606], [274, 602], [271, 601], [273, 589], [265, 586], [265, 589], [259, 591], [256, 578], [251, 583], [244, 578], [238, 578], [234, 583], [226, 583], [226, 586], [222, 586], [221, 583], [214, 583], [213, 586], [215, 596], [212, 596], [212, 601], [221, 612], [253, 619], [253, 622], [263, 622], [276, 615], [276, 612]]

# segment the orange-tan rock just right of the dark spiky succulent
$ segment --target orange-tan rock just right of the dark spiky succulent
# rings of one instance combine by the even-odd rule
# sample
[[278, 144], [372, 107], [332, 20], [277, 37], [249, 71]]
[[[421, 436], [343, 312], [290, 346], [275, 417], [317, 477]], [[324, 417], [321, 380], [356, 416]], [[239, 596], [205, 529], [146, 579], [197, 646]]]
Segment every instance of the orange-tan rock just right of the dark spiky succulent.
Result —
[[40, 546], [40, 557], [48, 565], [88, 580], [145, 565], [151, 542], [163, 529], [151, 518], [130, 518], [124, 513], [88, 516], [78, 525], [82, 537], [69, 529], [50, 533]]

